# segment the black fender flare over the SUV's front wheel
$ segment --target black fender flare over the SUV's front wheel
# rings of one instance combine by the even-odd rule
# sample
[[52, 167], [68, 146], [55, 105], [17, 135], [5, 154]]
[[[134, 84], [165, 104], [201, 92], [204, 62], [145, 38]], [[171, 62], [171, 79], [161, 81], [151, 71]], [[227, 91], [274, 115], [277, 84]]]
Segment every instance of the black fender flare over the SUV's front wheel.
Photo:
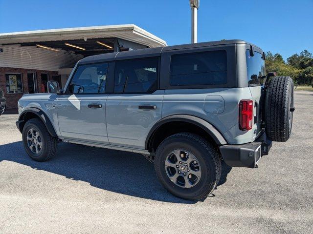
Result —
[[29, 113], [29, 112], [35, 114], [36, 116], [38, 116], [43, 121], [43, 123], [45, 124], [45, 127], [47, 128], [49, 134], [52, 137], [58, 137], [58, 135], [56, 134], [56, 132], [54, 130], [53, 124], [51, 123], [51, 121], [47, 117], [47, 115], [42, 110], [35, 108], [35, 107], [28, 108], [28, 109], [22, 111], [22, 113], [20, 114], [19, 121], [16, 122], [16, 126], [18, 127], [18, 129], [20, 130], [21, 133], [22, 133], [22, 129], [23, 129], [24, 124], [25, 124], [25, 119], [24, 119], [25, 114]]

